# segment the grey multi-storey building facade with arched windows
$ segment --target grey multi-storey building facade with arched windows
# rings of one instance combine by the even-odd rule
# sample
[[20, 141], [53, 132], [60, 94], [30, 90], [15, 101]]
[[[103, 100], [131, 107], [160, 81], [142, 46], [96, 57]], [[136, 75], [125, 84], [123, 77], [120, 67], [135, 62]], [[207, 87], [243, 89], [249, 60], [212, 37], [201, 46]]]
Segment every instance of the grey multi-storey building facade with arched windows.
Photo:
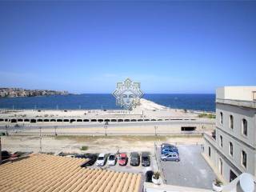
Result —
[[216, 91], [216, 128], [204, 134], [203, 154], [231, 182], [256, 175], [256, 86], [226, 86]]

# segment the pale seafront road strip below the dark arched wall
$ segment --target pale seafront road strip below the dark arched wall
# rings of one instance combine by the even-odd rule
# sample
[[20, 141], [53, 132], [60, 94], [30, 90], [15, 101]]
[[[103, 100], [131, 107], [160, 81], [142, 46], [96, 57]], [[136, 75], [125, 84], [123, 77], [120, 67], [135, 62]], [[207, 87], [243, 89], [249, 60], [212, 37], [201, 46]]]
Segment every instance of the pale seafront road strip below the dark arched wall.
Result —
[[[182, 131], [182, 126], [197, 127], [194, 131]], [[105, 126], [104, 123], [85, 125], [58, 125], [58, 126], [19, 126], [8, 127], [8, 134], [34, 135], [174, 135], [174, 134], [202, 134], [213, 130], [211, 121], [175, 121], [175, 122], [117, 122]], [[41, 129], [41, 130], [40, 130]], [[6, 127], [0, 128], [6, 132]]]

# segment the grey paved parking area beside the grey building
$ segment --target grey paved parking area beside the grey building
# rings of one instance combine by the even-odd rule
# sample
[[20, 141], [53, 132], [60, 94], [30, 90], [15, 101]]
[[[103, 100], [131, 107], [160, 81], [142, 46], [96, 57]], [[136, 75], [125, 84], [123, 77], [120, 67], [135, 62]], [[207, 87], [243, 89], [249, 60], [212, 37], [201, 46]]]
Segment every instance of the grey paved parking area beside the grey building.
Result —
[[178, 146], [180, 162], [163, 162], [158, 147], [158, 162], [166, 184], [212, 189], [214, 171], [201, 154], [201, 146]]

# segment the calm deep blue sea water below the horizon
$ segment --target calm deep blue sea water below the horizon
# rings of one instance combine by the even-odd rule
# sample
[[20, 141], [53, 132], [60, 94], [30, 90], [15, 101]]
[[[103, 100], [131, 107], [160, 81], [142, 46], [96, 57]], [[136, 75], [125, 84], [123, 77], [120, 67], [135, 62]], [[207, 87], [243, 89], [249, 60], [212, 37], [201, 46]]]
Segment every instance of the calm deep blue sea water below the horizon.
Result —
[[[163, 106], [215, 111], [215, 94], [145, 94]], [[112, 94], [71, 94], [30, 98], [0, 98], [0, 108], [12, 109], [120, 109]]]

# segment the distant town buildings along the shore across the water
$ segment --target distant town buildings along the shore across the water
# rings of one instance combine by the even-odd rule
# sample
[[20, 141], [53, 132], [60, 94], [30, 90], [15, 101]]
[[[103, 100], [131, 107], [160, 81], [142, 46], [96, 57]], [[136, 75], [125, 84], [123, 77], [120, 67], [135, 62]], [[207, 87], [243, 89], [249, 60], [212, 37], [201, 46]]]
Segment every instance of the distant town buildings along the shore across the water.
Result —
[[0, 98], [34, 97], [42, 95], [66, 95], [67, 91], [56, 90], [24, 90], [21, 88], [0, 88]]

